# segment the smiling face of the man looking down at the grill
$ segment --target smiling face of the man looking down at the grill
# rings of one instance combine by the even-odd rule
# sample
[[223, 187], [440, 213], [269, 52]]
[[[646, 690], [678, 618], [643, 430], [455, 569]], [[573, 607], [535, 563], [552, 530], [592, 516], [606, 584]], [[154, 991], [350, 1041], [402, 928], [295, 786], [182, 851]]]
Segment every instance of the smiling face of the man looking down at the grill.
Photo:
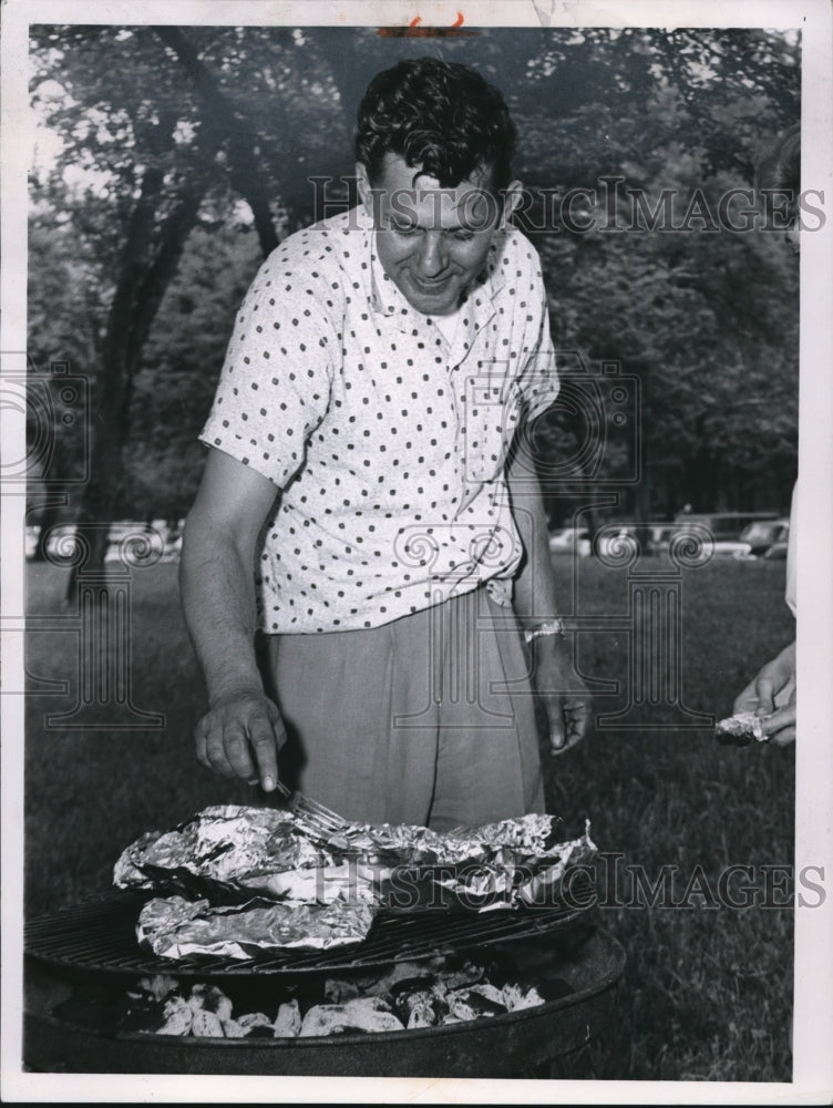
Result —
[[384, 271], [416, 311], [425, 316], [455, 311], [485, 265], [504, 213], [508, 216], [520, 201], [517, 182], [504, 203], [487, 192], [485, 174], [442, 188], [397, 154], [385, 155], [376, 186], [363, 165], [356, 170], [359, 196], [376, 224]]

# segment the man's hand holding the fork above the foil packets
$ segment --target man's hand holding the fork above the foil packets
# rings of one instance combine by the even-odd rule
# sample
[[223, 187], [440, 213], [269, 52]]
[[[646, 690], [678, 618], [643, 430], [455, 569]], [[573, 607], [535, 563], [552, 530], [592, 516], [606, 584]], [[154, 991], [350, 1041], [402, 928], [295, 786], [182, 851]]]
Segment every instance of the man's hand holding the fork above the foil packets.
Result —
[[197, 761], [222, 777], [258, 781], [271, 792], [286, 731], [278, 707], [260, 693], [230, 694], [212, 704], [194, 731]]

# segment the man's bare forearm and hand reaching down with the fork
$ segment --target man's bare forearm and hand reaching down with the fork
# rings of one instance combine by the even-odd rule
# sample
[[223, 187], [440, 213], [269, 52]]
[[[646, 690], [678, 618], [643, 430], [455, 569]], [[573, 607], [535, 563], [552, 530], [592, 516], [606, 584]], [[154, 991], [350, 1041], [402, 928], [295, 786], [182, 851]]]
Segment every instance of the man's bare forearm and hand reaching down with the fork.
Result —
[[195, 729], [197, 759], [223, 777], [259, 781], [267, 792], [286, 736], [255, 658], [255, 553], [276, 491], [212, 449], [179, 564], [185, 619], [208, 689], [209, 710]]

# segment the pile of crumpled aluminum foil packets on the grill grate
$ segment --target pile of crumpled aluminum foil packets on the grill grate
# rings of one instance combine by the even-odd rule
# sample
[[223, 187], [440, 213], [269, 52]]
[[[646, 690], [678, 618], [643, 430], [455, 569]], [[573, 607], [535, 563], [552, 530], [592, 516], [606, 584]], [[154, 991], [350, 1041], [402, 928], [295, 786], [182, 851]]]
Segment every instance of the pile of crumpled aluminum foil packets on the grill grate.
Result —
[[575, 840], [559, 842], [561, 829], [532, 813], [445, 833], [350, 824], [313, 841], [291, 811], [216, 806], [141, 835], [114, 882], [157, 893], [137, 935], [162, 957], [327, 950], [362, 942], [379, 911], [563, 906], [565, 874], [596, 847], [589, 821]]

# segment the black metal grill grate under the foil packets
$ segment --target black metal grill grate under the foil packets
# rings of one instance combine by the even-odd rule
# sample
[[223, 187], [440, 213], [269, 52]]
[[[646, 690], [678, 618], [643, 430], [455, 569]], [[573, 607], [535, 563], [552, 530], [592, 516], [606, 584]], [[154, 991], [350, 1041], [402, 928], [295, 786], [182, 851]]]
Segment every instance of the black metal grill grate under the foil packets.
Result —
[[[143, 900], [124, 893], [32, 920], [25, 927], [25, 953], [49, 965], [96, 974], [214, 977], [312, 973], [389, 965], [438, 952], [565, 931], [587, 914], [586, 909], [542, 907], [471, 915], [440, 911], [380, 915], [364, 942], [357, 945], [329, 951], [258, 952], [250, 962], [214, 957], [172, 961], [145, 953], [136, 942], [135, 924]], [[584, 899], [580, 902], [588, 903]]]

